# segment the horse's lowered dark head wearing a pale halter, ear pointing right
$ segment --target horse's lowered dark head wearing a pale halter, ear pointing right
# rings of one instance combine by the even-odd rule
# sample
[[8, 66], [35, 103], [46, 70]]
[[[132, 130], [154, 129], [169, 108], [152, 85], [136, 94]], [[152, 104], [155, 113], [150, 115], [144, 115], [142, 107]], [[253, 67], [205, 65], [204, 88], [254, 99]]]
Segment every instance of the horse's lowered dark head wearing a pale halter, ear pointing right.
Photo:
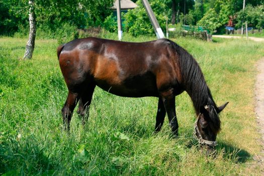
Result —
[[227, 104], [228, 102], [218, 108], [213, 105], [201, 107], [194, 134], [199, 143], [205, 145], [208, 150], [213, 149], [216, 145], [216, 135], [220, 131], [221, 124], [218, 114]]

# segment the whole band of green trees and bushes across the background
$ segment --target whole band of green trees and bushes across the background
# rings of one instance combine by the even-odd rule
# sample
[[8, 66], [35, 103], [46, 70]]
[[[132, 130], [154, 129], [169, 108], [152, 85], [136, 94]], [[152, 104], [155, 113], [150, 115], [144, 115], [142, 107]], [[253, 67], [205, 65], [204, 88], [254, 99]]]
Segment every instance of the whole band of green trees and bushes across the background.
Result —
[[[110, 32], [116, 32], [117, 20], [110, 7], [115, 0], [35, 0], [37, 33], [54, 38], [56, 35], [75, 36], [77, 29], [101, 26]], [[229, 17], [237, 17], [237, 27], [243, 18], [249, 25], [263, 28], [262, 7], [264, 0], [246, 0], [243, 13], [243, 1], [237, 0], [148, 0], [160, 27], [165, 31], [165, 21], [187, 25], [220, 25], [224, 28]], [[153, 35], [154, 31], [141, 0], [133, 0], [138, 8], [129, 10], [122, 18], [124, 31], [132, 35]], [[172, 3], [173, 2], [173, 3]], [[172, 4], [173, 7], [172, 7]], [[27, 35], [29, 30], [27, 0], [0, 0], [0, 35], [12, 35], [19, 32]], [[173, 10], [172, 10], [173, 8]], [[213, 14], [210, 14], [212, 13]], [[173, 14], [174, 13], [174, 16]], [[212, 17], [215, 18], [212, 18]], [[209, 21], [207, 21], [207, 20]], [[217, 20], [216, 20], [217, 19]], [[68, 28], [68, 29], [65, 29]], [[218, 27], [217, 27], [218, 28]], [[217, 29], [216, 28], [216, 29]], [[69, 32], [69, 30], [74, 30]], [[214, 31], [214, 30], [213, 30]], [[63, 34], [67, 33], [67, 34]], [[38, 36], [38, 35], [37, 35]], [[63, 37], [64, 36], [64, 37]], [[56, 37], [55, 37], [56, 38]]]

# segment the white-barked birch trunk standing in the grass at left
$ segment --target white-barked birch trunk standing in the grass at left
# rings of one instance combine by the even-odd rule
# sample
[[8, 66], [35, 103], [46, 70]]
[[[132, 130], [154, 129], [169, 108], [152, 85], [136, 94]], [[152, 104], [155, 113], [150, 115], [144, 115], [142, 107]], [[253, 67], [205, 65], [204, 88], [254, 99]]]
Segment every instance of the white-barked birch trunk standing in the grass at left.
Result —
[[26, 46], [24, 59], [31, 59], [35, 47], [36, 19], [34, 13], [34, 0], [29, 0], [29, 40]]

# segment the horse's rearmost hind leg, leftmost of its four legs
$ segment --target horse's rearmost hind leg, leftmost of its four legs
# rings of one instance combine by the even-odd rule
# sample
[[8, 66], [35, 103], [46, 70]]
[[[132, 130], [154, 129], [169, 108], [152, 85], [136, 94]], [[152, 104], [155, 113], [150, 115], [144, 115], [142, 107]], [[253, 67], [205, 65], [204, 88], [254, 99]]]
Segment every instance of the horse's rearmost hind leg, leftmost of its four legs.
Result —
[[78, 94], [69, 92], [66, 102], [63, 108], [61, 109], [64, 130], [69, 131], [70, 129], [70, 120], [71, 120], [72, 112], [77, 102], [78, 102]]

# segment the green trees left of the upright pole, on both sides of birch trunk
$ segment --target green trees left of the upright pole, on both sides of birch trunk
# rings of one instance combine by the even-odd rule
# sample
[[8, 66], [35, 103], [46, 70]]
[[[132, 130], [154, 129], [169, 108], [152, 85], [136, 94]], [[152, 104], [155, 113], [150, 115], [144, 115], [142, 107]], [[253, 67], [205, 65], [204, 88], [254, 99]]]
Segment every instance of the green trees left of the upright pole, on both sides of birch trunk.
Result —
[[[35, 0], [37, 27], [56, 31], [64, 24], [78, 29], [102, 26], [114, 0]], [[0, 1], [0, 33], [28, 28], [28, 1]], [[2, 13], [3, 12], [3, 13]]]

